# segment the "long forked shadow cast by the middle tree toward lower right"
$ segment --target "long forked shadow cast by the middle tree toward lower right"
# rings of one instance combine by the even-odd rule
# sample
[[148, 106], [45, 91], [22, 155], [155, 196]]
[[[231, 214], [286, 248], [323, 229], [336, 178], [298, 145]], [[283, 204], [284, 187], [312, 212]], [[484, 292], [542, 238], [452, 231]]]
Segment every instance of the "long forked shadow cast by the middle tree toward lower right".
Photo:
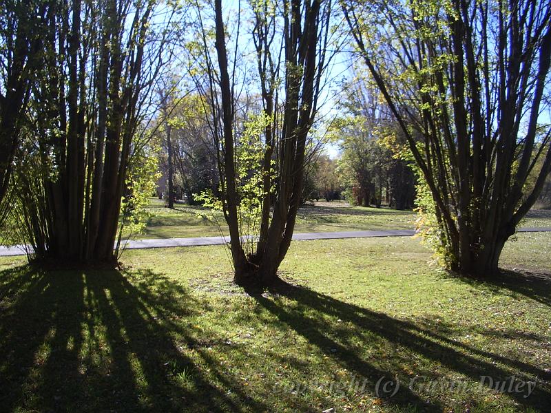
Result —
[[[403, 367], [410, 366], [412, 359], [417, 357], [426, 358], [464, 374], [472, 379], [472, 385], [477, 385], [482, 376], [489, 376], [494, 380], [506, 380], [513, 376], [526, 380], [539, 377], [541, 380], [548, 376], [541, 366], [508, 359], [491, 351], [479, 350], [449, 339], [439, 330], [395, 319], [384, 313], [377, 313], [317, 293], [309, 288], [280, 282], [269, 292], [275, 295], [274, 299], [261, 295], [258, 291], [249, 291], [249, 294], [282, 323], [293, 328], [320, 350], [331, 354], [331, 357], [350, 372], [368, 379], [367, 388], [371, 390], [375, 390], [377, 381], [382, 377], [398, 377], [400, 383], [409, 383], [411, 376], [404, 373]], [[288, 297], [295, 302], [280, 305], [278, 295]], [[311, 314], [311, 316], [305, 314]], [[340, 320], [342, 327], [331, 327], [326, 322], [328, 317]], [[361, 354], [364, 349], [357, 346], [358, 337], [366, 339], [365, 346], [386, 345], [393, 348], [395, 351], [392, 361], [368, 361]], [[419, 372], [416, 373], [419, 374]], [[435, 380], [439, 379], [430, 371], [421, 372], [421, 374], [426, 374]], [[378, 395], [385, 396], [384, 392]], [[528, 398], [520, 393], [508, 395], [526, 407], [534, 407], [542, 412], [551, 411], [549, 383], [539, 382]], [[417, 409], [428, 412], [441, 412], [443, 409], [437, 401], [427, 402], [426, 399], [422, 399], [408, 385], [401, 385], [397, 394], [388, 398], [386, 403], [396, 407], [410, 407], [413, 404]]]

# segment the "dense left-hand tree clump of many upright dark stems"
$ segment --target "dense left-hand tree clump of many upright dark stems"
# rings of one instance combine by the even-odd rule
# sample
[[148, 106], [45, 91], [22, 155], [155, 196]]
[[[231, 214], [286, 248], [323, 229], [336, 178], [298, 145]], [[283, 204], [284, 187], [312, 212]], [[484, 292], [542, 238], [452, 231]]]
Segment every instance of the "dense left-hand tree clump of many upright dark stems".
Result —
[[[20, 205], [37, 258], [114, 262], [121, 199], [170, 24], [156, 1], [56, 2], [32, 90]], [[154, 27], [158, 31], [154, 31]], [[136, 164], [137, 165], [137, 164]]]

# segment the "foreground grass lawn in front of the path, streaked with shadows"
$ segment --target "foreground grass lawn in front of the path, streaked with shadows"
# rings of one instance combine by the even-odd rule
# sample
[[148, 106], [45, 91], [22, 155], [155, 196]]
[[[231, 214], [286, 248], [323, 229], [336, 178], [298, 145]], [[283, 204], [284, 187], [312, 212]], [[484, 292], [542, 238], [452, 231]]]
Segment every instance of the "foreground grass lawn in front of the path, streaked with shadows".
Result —
[[126, 251], [119, 271], [2, 258], [0, 411], [551, 412], [550, 243], [518, 235], [475, 282], [408, 237], [293, 242], [262, 295], [222, 246]]

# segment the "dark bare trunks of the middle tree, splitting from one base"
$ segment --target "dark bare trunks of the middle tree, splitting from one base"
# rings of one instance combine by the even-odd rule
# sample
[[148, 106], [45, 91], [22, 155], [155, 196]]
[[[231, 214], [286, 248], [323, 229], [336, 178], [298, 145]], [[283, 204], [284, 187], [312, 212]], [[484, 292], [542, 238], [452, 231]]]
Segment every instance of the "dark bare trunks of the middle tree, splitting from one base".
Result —
[[[245, 257], [240, 239], [238, 207], [238, 182], [234, 158], [233, 123], [235, 121], [235, 96], [228, 74], [225, 28], [222, 21], [221, 0], [215, 0], [216, 52], [220, 69], [217, 87], [220, 89], [221, 105], [214, 109], [214, 118], [221, 119], [219, 129], [214, 131], [215, 139], [222, 142], [218, 165], [224, 174], [221, 182], [222, 204], [229, 227], [230, 248], [234, 266], [234, 282], [240, 285], [272, 284], [277, 279], [277, 271], [287, 253], [293, 233], [296, 212], [302, 195], [304, 174], [304, 153], [306, 135], [313, 123], [316, 112], [322, 70], [324, 70], [325, 48], [319, 52], [318, 23], [324, 21], [324, 30], [329, 27], [329, 6], [323, 18], [320, 17], [320, 1], [302, 3], [300, 0], [284, 1], [282, 7], [284, 31], [284, 104], [278, 102], [278, 94], [273, 94], [279, 63], [273, 63], [271, 54], [270, 30], [277, 27], [275, 16], [267, 6], [256, 8], [256, 30], [253, 40], [258, 52], [258, 67], [261, 79], [261, 92], [264, 101], [264, 114], [268, 123], [264, 128], [266, 149], [262, 164], [262, 189], [260, 236], [256, 251]], [[205, 45], [205, 53], [208, 47]], [[279, 52], [278, 52], [279, 53]], [[283, 63], [283, 62], [281, 62]], [[209, 72], [211, 88], [214, 89], [214, 75]], [[214, 93], [212, 94], [214, 96]], [[218, 109], [218, 107], [221, 108]], [[283, 113], [272, 118], [273, 108], [282, 107]], [[217, 113], [217, 111], [220, 111]], [[279, 118], [278, 116], [281, 116]], [[272, 126], [273, 125], [273, 126]], [[214, 129], [218, 127], [215, 121]], [[273, 127], [273, 129], [272, 129]], [[275, 129], [278, 128], [276, 132]], [[278, 134], [276, 145], [275, 134]], [[272, 151], [278, 149], [275, 173], [271, 179]], [[223, 162], [220, 161], [220, 153]], [[271, 187], [275, 181], [275, 193]], [[271, 205], [273, 216], [270, 220]]]

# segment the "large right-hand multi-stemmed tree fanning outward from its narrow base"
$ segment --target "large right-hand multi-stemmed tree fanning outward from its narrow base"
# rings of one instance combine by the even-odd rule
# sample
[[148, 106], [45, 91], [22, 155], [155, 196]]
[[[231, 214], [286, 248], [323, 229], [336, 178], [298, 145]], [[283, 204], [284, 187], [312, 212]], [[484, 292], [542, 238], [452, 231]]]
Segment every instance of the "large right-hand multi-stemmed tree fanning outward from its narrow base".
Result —
[[[550, 129], [537, 141], [539, 114], [549, 104], [551, 3], [342, 6], [357, 53], [430, 193], [425, 210], [435, 215], [447, 266], [464, 274], [495, 273], [503, 245], [551, 169]], [[540, 158], [536, 182], [527, 189]]]

